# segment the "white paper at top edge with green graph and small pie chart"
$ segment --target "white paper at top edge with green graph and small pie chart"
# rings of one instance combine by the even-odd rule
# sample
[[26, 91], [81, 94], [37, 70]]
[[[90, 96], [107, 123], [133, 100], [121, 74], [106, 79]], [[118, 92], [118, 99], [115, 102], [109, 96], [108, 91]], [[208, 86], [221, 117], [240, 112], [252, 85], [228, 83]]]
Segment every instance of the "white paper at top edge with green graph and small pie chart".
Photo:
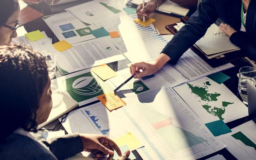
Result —
[[[109, 7], [105, 7], [107, 5]], [[114, 17], [123, 12], [123, 9], [116, 1], [111, 0], [93, 0], [78, 6], [66, 9], [79, 20], [87, 23], [87, 26], [93, 24], [94, 20], [102, 20]]]

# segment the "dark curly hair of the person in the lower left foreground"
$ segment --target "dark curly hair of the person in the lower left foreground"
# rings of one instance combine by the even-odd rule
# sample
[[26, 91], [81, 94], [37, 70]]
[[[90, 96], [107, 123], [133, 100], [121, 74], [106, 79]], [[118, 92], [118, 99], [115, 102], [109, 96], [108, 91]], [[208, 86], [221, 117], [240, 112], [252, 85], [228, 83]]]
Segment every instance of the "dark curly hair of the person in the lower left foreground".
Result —
[[48, 82], [47, 63], [28, 46], [0, 46], [0, 141], [23, 128], [36, 132], [36, 111]]

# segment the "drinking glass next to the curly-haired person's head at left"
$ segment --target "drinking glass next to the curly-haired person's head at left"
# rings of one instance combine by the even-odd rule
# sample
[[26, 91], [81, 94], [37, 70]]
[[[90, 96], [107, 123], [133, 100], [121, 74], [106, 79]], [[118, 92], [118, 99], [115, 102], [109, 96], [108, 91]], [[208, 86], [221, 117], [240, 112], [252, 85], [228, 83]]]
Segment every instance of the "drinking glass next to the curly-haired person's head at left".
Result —
[[45, 58], [48, 74], [50, 79], [54, 78], [56, 75], [56, 57], [57, 55], [52, 51], [41, 51], [42, 56]]

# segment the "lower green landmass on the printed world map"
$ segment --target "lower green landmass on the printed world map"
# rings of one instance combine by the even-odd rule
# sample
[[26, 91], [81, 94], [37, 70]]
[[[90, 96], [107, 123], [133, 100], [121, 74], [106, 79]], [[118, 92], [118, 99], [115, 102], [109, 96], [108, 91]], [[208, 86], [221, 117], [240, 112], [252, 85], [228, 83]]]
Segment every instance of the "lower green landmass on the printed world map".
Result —
[[226, 111], [225, 107], [227, 107], [230, 104], [234, 104], [234, 103], [222, 102], [222, 107], [221, 108], [218, 108], [218, 107], [213, 107], [212, 108], [212, 106], [209, 106], [209, 105], [203, 105], [203, 107], [204, 107], [204, 109], [207, 110], [208, 113], [212, 114], [213, 116], [219, 117], [220, 120], [224, 120], [222, 115]]

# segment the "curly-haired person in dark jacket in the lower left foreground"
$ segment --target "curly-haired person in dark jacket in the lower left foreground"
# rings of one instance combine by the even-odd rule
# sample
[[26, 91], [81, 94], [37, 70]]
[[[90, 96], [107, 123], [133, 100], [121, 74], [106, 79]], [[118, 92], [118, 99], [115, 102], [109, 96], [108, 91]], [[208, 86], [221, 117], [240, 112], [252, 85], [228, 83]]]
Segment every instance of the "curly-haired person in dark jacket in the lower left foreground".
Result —
[[[29, 47], [0, 46], [0, 160], [63, 160], [90, 151], [96, 159], [113, 150], [111, 139], [96, 134], [68, 134], [38, 142], [29, 131], [37, 131], [52, 109], [51, 81], [44, 57]], [[120, 160], [128, 159], [126, 151]]]

